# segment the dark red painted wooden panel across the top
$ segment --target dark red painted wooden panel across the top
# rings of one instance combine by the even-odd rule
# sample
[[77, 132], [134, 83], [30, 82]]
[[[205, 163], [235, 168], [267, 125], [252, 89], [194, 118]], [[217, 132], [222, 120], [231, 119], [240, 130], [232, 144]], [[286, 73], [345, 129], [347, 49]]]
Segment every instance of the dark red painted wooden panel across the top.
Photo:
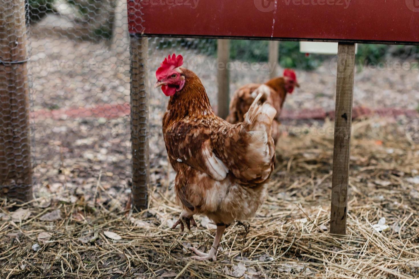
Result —
[[419, 0], [127, 0], [130, 33], [419, 43]]

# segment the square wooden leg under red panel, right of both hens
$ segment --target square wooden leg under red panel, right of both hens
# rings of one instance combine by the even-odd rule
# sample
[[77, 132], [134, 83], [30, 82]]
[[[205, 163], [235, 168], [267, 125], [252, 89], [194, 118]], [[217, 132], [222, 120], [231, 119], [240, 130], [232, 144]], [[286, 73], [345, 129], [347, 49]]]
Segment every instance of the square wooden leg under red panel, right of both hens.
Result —
[[355, 44], [339, 43], [330, 233], [346, 234]]

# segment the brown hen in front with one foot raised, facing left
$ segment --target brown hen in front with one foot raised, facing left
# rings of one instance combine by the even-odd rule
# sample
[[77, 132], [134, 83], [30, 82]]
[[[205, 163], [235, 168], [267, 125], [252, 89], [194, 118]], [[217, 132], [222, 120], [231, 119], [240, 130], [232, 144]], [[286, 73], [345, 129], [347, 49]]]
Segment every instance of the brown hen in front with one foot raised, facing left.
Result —
[[216, 259], [222, 234], [234, 220], [251, 218], [266, 195], [274, 169], [271, 123], [276, 110], [255, 97], [235, 125], [219, 118], [200, 79], [181, 68], [181, 55], [168, 56], [156, 72], [155, 87], [170, 96], [163, 117], [163, 136], [175, 178], [176, 200], [183, 207], [173, 225], [196, 225], [193, 215], [206, 215], [217, 225], [209, 253], [191, 248], [197, 260]]

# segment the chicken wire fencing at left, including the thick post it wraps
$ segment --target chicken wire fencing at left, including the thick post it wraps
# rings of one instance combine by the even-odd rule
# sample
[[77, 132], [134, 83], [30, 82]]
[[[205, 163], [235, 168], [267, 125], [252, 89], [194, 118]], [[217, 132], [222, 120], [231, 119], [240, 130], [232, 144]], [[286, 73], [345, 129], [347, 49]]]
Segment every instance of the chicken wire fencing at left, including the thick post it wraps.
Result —
[[1, 2], [6, 23], [0, 29], [3, 194], [24, 200], [32, 197], [32, 185], [38, 197], [94, 196], [97, 187], [107, 191], [105, 202], [128, 194], [126, 2]]

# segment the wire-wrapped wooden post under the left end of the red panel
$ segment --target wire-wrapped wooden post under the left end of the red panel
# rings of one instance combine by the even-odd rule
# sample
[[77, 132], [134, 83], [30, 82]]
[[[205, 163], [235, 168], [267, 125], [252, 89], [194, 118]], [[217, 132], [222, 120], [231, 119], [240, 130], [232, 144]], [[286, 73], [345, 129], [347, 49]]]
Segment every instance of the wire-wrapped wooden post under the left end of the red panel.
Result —
[[148, 39], [130, 36], [131, 51], [131, 142], [132, 142], [132, 204], [137, 210], [148, 206], [150, 182], [148, 146]]

